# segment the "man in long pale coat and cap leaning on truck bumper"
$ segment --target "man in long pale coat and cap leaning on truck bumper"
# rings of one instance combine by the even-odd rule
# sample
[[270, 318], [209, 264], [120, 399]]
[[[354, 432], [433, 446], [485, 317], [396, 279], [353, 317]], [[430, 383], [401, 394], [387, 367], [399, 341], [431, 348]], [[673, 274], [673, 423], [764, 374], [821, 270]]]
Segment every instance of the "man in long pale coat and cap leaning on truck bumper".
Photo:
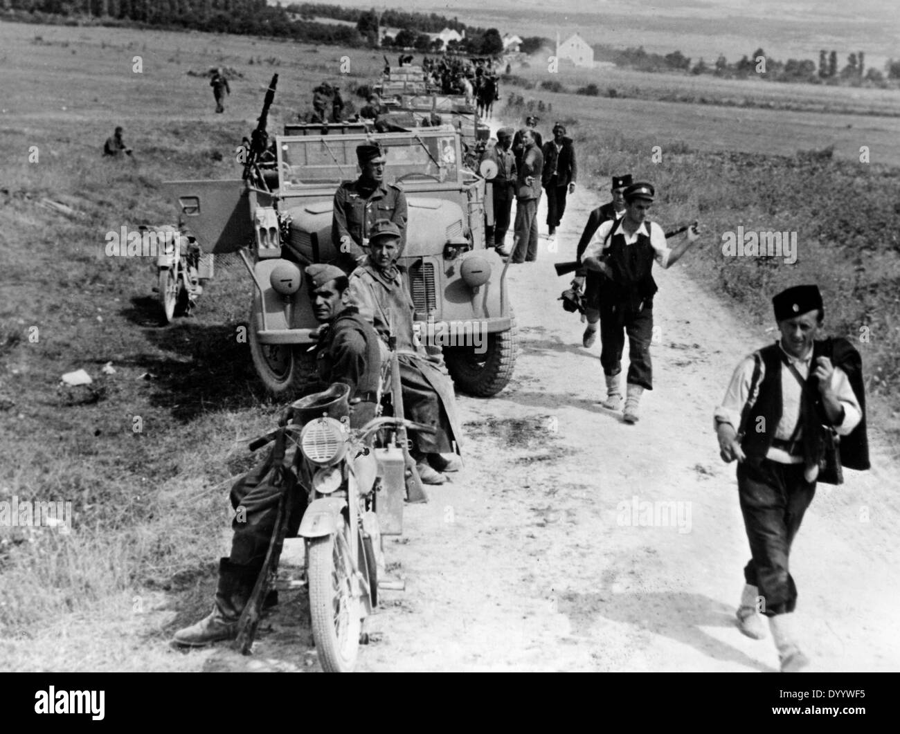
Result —
[[382, 337], [387, 354], [388, 337], [396, 336], [399, 354], [403, 413], [410, 420], [433, 425], [436, 434], [410, 432], [410, 453], [419, 477], [426, 484], [443, 484], [443, 472], [457, 470], [462, 462], [453, 443], [461, 443], [453, 383], [413, 334], [415, 306], [397, 267], [400, 230], [391, 221], [379, 221], [369, 240], [369, 258], [350, 274], [349, 301]]

